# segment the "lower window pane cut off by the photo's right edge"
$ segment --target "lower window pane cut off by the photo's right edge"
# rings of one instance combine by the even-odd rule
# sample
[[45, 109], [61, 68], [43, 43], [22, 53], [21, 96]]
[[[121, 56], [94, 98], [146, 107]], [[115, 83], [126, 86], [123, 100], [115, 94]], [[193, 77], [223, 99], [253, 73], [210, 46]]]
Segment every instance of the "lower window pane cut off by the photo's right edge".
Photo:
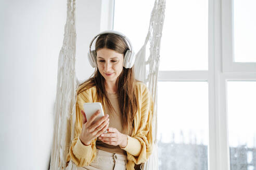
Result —
[[228, 81], [231, 170], [256, 169], [256, 82]]

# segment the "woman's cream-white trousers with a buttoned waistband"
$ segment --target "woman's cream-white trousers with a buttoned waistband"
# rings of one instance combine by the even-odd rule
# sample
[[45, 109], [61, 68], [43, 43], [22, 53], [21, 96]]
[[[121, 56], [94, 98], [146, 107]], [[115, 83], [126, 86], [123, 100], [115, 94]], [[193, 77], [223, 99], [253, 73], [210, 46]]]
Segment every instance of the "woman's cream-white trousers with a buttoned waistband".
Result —
[[126, 155], [97, 149], [93, 162], [88, 166], [78, 167], [78, 170], [125, 170], [125, 165]]

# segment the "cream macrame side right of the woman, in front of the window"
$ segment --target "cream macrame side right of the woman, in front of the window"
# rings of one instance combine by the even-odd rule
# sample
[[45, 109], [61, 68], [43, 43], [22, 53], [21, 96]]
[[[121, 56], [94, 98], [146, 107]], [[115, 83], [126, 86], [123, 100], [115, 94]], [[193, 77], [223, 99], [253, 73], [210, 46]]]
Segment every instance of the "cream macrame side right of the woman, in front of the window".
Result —
[[[140, 167], [141, 169], [158, 169], [158, 147], [157, 147], [157, 83], [160, 59], [160, 41], [165, 12], [165, 0], [156, 0], [151, 11], [150, 24], [145, 43], [136, 54], [135, 78], [147, 84], [154, 103], [153, 110], [153, 152], [148, 161]], [[150, 54], [146, 61], [146, 45], [150, 41]]]

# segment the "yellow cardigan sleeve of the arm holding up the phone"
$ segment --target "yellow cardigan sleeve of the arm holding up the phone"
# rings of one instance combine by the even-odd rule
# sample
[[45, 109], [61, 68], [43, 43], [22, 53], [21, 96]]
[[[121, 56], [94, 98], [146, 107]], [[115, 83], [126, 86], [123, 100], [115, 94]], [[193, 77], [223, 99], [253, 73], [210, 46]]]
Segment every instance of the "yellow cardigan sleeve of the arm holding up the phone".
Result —
[[92, 143], [88, 146], [83, 145], [80, 140], [83, 123], [81, 110], [83, 109], [84, 103], [91, 102], [93, 102], [93, 100], [90, 91], [86, 90], [78, 95], [75, 105], [75, 134], [69, 149], [67, 162], [72, 160], [76, 166], [80, 167], [89, 165], [96, 157], [96, 138], [92, 140]]

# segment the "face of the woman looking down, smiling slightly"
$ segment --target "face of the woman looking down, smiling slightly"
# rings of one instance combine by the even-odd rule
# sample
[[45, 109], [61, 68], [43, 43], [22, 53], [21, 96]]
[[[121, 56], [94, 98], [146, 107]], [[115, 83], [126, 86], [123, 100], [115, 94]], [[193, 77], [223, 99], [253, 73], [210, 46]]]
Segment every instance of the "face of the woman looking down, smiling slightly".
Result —
[[116, 83], [123, 70], [123, 54], [108, 48], [97, 50], [97, 65], [99, 73], [106, 81]]

